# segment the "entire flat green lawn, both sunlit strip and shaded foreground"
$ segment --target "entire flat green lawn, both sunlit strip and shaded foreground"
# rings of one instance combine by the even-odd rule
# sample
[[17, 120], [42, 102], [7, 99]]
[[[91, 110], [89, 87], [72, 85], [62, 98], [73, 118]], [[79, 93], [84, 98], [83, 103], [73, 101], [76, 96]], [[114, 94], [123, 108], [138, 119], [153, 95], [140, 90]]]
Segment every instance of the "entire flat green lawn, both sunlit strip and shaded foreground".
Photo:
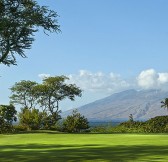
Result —
[[0, 135], [0, 162], [168, 162], [168, 134]]

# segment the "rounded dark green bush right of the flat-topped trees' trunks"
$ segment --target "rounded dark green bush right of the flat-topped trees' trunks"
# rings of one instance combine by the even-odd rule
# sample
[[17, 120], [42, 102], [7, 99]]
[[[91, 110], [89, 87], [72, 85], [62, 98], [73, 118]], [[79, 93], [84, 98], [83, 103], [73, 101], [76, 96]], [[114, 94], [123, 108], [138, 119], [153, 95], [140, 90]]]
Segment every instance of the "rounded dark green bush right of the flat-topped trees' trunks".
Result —
[[73, 110], [72, 115], [68, 115], [63, 122], [63, 130], [74, 133], [89, 128], [89, 122], [85, 116], [81, 115], [77, 110]]

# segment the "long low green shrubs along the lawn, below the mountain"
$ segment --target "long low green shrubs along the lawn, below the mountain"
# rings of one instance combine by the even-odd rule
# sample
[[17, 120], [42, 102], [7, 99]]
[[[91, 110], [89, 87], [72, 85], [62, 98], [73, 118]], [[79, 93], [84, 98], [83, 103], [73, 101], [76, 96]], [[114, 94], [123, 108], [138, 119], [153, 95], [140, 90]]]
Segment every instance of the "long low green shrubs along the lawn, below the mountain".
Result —
[[156, 116], [147, 121], [129, 119], [117, 126], [96, 126], [92, 133], [168, 133], [168, 116]]

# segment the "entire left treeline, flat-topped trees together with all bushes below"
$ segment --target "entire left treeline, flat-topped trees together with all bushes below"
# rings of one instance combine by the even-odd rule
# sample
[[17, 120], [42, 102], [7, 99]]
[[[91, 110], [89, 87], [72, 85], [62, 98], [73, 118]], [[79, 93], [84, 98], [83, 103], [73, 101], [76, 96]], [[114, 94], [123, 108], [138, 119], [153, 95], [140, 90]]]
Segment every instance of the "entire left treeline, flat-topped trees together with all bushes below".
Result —
[[[82, 90], [75, 84], [68, 84], [65, 76], [47, 77], [41, 84], [34, 81], [20, 81], [11, 87], [10, 105], [0, 105], [0, 132], [30, 130], [57, 130], [80, 132], [89, 127], [87, 119], [74, 110], [71, 115], [61, 120], [59, 102], [64, 99], [75, 100], [81, 97]], [[14, 105], [20, 105], [17, 113]], [[13, 126], [18, 119], [19, 124]]]

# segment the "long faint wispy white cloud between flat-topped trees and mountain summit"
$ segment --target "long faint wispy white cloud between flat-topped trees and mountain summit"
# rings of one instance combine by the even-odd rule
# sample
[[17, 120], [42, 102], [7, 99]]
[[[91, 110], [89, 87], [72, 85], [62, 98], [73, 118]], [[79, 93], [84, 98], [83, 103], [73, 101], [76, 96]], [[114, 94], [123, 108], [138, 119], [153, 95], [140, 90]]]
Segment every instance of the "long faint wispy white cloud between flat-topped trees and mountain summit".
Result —
[[86, 70], [80, 70], [79, 74], [68, 75], [70, 83], [75, 83], [84, 91], [103, 92], [106, 94], [123, 90], [130, 85], [123, 80], [120, 75], [102, 72], [92, 73]]

